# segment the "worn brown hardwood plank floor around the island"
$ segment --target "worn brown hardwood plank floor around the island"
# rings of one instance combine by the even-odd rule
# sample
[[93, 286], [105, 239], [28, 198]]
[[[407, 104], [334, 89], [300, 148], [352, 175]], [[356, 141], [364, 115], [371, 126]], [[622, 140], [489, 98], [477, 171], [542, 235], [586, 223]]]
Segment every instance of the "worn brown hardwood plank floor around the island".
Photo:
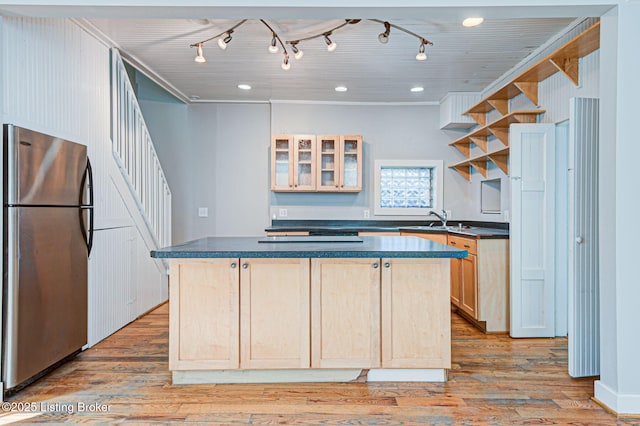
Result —
[[455, 314], [452, 330], [448, 383], [173, 386], [165, 304], [9, 398], [0, 424], [640, 424], [568, 376], [566, 339], [484, 335]]

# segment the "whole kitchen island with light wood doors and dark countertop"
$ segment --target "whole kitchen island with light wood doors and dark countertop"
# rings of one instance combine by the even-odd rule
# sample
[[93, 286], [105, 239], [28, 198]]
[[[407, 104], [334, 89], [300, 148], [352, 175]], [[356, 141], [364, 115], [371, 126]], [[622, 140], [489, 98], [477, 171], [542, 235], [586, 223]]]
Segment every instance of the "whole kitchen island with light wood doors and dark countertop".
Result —
[[449, 259], [417, 237], [203, 238], [170, 261], [173, 382], [444, 381]]

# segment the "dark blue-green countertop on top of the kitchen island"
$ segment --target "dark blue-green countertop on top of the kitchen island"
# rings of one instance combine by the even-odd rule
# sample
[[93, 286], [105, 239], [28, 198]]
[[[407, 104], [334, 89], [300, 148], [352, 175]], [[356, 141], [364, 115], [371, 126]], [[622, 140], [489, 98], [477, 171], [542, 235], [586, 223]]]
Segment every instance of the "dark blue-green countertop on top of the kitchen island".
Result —
[[[260, 243], [269, 237], [208, 237], [151, 252], [154, 258], [464, 258], [468, 253], [418, 237], [360, 237], [362, 242]], [[278, 237], [281, 238], [281, 237]]]

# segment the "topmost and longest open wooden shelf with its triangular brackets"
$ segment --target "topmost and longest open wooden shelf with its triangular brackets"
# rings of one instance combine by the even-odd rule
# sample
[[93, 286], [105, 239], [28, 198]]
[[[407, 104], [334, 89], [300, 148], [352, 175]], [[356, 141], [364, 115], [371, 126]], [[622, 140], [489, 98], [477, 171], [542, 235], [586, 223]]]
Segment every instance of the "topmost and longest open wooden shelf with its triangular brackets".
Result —
[[486, 124], [486, 113], [497, 110], [506, 114], [509, 99], [524, 94], [535, 105], [538, 105], [538, 83], [562, 72], [576, 86], [579, 84], [579, 60], [600, 48], [600, 22], [580, 33], [551, 54], [536, 62], [522, 74], [515, 77], [507, 85], [482, 99], [465, 112], [480, 126]]

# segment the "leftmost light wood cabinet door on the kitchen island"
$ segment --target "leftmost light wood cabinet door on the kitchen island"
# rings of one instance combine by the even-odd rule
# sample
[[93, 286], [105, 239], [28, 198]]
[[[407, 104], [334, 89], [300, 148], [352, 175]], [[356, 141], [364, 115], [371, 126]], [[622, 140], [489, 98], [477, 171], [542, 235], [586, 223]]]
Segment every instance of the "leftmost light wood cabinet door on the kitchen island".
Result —
[[239, 276], [238, 259], [171, 261], [171, 370], [239, 368]]

